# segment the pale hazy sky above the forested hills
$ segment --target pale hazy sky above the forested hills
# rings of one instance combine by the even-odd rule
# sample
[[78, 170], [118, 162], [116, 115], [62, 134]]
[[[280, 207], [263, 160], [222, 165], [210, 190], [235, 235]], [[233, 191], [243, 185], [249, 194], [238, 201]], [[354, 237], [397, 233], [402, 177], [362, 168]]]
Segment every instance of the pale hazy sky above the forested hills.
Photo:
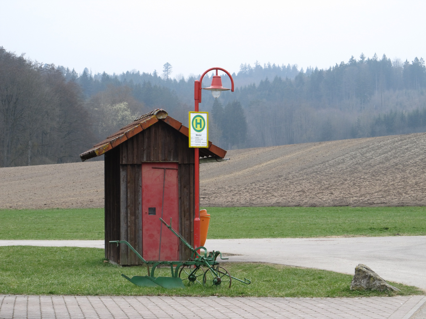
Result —
[[426, 1], [0, 0], [0, 46], [92, 72], [426, 58]]

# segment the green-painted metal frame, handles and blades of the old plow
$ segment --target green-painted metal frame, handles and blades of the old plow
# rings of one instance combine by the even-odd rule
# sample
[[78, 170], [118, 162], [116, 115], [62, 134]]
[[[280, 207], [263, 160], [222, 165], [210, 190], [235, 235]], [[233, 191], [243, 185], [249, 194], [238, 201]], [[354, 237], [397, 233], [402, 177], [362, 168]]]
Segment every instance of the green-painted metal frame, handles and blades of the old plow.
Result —
[[[170, 218], [170, 225], [167, 225], [166, 222], [164, 222], [163, 219], [161, 219], [161, 222], [167, 226], [167, 228], [170, 229], [170, 231], [173, 232], [173, 234], [175, 234], [186, 246], [187, 248], [190, 249], [190, 251], [192, 252], [192, 256], [193, 258], [187, 260], [187, 261], [181, 261], [181, 260], [176, 260], [176, 261], [158, 261], [158, 260], [145, 260], [136, 250], [135, 248], [132, 247], [132, 245], [130, 245], [127, 241], [125, 240], [113, 240], [110, 241], [109, 243], [111, 244], [126, 244], [135, 254], [136, 256], [138, 256], [139, 259], [142, 260], [142, 262], [144, 262], [144, 264], [147, 264], [148, 267], [148, 273], [150, 274], [150, 276], [133, 276], [132, 278], [129, 278], [127, 276], [125, 276], [124, 274], [121, 274], [121, 276], [123, 276], [124, 278], [126, 278], [127, 280], [129, 280], [130, 282], [134, 283], [135, 285], [138, 286], [155, 286], [155, 285], [160, 285], [162, 287], [165, 288], [183, 288], [184, 285], [182, 283], [182, 280], [178, 277], [178, 271], [179, 268], [184, 265], [184, 266], [195, 266], [194, 271], [198, 270], [200, 268], [200, 266], [205, 266], [207, 267], [207, 270], [210, 271], [211, 275], [213, 278], [219, 278], [219, 277], [223, 277], [223, 276], [228, 276], [232, 279], [238, 280], [239, 282], [244, 282], [247, 285], [250, 285], [250, 280], [244, 278], [244, 280], [235, 278], [233, 276], [231, 276], [229, 273], [224, 273], [223, 271], [218, 271], [214, 269], [214, 266], [219, 265], [219, 262], [216, 261], [216, 258], [218, 256], [220, 256], [220, 259], [224, 260], [224, 259], [228, 259], [228, 258], [223, 258], [222, 257], [222, 253], [220, 251], [210, 251], [207, 254], [207, 249], [203, 246], [200, 246], [198, 248], [193, 248], [182, 236], [181, 234], [179, 234], [177, 231], [175, 231], [172, 228], [172, 219]], [[201, 255], [200, 253], [198, 253], [199, 250], [203, 250], [204, 251], [204, 256]], [[150, 271], [150, 265], [152, 265], [151, 267], [151, 271]], [[157, 268], [158, 265], [170, 265], [170, 271], [171, 271], [171, 277], [155, 277], [155, 268]], [[176, 265], [173, 267], [173, 265]], [[193, 271], [193, 272], [194, 272]], [[193, 273], [191, 272], [191, 273]], [[206, 271], [207, 272], [207, 271]], [[222, 276], [221, 276], [222, 275]], [[154, 283], [154, 285], [153, 285]], [[205, 284], [205, 282], [203, 281], [203, 284]], [[216, 282], [214, 283], [214, 285], [220, 285], [220, 280], [219, 283]]]

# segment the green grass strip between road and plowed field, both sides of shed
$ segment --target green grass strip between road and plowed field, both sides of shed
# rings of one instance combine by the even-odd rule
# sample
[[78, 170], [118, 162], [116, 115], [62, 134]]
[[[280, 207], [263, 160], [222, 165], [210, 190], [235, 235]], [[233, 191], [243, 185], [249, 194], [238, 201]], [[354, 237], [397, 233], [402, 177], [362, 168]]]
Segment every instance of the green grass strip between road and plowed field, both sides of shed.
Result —
[[[426, 207], [206, 208], [208, 238], [426, 235]], [[104, 239], [104, 210], [0, 210], [0, 239]]]

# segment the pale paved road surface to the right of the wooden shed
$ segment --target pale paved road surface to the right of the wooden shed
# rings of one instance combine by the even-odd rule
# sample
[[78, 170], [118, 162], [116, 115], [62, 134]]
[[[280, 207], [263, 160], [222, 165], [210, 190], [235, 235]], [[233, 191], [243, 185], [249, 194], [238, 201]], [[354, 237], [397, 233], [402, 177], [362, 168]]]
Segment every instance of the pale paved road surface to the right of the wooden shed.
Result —
[[383, 279], [426, 289], [426, 236], [208, 239], [230, 261], [273, 262], [354, 274], [365, 264]]

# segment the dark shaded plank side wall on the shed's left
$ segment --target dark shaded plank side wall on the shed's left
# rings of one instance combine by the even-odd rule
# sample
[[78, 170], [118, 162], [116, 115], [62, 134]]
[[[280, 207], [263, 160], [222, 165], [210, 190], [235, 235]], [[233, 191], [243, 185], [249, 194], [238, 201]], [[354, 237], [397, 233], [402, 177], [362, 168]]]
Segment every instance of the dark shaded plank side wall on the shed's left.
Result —
[[119, 248], [109, 244], [120, 239], [120, 150], [105, 153], [105, 258], [120, 263]]

